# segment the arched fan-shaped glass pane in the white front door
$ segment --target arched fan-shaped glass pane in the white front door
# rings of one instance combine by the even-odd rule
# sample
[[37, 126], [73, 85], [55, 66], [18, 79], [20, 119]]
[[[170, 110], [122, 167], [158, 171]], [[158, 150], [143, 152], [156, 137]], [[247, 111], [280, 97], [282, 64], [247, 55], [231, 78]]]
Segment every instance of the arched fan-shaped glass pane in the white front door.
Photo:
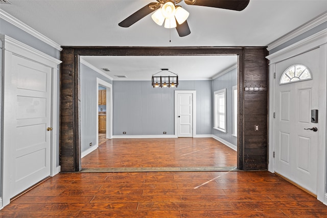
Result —
[[281, 81], [279, 81], [279, 85], [311, 79], [311, 72], [306, 66], [295, 64], [284, 71]]

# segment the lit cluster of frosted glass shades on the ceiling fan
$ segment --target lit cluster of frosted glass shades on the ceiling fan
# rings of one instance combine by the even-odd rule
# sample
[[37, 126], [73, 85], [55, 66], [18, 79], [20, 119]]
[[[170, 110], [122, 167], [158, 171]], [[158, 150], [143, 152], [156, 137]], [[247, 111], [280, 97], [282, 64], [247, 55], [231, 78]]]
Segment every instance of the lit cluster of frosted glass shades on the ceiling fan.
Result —
[[164, 5], [156, 10], [152, 15], [152, 19], [157, 25], [161, 26], [165, 22], [165, 28], [175, 28], [178, 24], [182, 24], [189, 17], [190, 13], [181, 6], [175, 6], [175, 1], [167, 1]]

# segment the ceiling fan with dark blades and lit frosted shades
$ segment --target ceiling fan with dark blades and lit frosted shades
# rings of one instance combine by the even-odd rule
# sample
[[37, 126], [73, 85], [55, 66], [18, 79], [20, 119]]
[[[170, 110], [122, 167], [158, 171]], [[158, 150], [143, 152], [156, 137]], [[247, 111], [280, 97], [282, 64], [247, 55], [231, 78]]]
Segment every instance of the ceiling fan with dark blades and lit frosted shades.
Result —
[[[118, 25], [121, 27], [130, 27], [138, 20], [152, 14], [152, 19], [158, 25], [162, 25], [165, 21], [165, 28], [176, 28], [180, 37], [187, 36], [191, 33], [190, 27], [186, 19], [189, 12], [177, 5], [183, 0], [156, 0], [157, 2], [149, 3], [139, 9]], [[233, 11], [242, 11], [247, 7], [250, 0], [184, 0], [187, 5], [207, 6], [213, 8], [229, 9]]]

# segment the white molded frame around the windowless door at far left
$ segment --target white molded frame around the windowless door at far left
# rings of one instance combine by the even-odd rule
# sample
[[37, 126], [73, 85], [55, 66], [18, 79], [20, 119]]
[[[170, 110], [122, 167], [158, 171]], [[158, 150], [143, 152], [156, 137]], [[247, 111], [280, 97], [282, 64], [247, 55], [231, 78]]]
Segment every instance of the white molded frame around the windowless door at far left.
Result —
[[52, 96], [51, 96], [51, 127], [54, 131], [51, 131], [51, 166], [50, 166], [50, 176], [54, 176], [60, 172], [60, 165], [57, 163], [57, 158], [59, 157], [59, 153], [57, 148], [59, 146], [59, 142], [57, 140], [57, 135], [59, 134], [58, 130], [58, 65], [61, 63], [60, 60], [57, 60], [49, 55], [46, 55], [33, 47], [30, 47], [24, 43], [21, 43], [11, 37], [0, 35], [0, 40], [2, 41], [2, 45], [0, 44], [1, 49], [3, 50], [3, 87], [4, 87], [4, 105], [3, 105], [3, 141], [2, 141], [2, 160], [3, 165], [1, 166], [1, 193], [2, 199], [0, 199], [0, 209], [10, 203], [10, 144], [12, 144], [14, 138], [11, 136], [12, 131], [12, 117], [11, 109], [15, 102], [12, 101], [10, 96], [8, 96], [7, 90], [11, 85], [11, 71], [12, 71], [12, 56], [17, 55], [22, 58], [29, 59], [31, 61], [35, 61], [41, 63], [43, 65], [49, 66], [52, 68]]

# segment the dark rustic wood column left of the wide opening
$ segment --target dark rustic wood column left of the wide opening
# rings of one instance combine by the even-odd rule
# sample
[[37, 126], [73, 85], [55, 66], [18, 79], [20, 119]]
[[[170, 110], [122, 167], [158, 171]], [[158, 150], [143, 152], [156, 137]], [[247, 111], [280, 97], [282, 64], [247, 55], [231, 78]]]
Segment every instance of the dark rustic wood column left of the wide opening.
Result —
[[79, 56], [74, 49], [61, 51], [60, 165], [62, 172], [81, 170]]

